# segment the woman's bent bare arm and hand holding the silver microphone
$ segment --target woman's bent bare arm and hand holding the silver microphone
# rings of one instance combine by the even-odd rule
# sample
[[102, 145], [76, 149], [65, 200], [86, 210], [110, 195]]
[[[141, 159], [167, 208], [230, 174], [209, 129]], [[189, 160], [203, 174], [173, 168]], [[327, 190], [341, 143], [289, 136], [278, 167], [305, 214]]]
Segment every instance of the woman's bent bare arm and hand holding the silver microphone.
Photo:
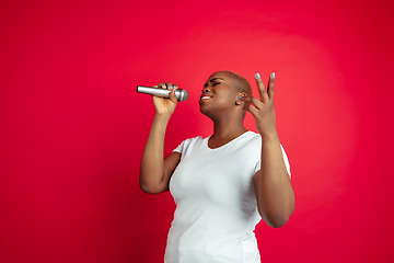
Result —
[[[170, 88], [171, 83], [159, 83], [159, 88]], [[169, 190], [169, 182], [172, 173], [181, 160], [177, 152], [170, 153], [164, 159], [164, 137], [170, 117], [176, 107], [176, 96], [173, 89], [170, 99], [153, 98], [155, 115], [146, 146], [143, 148], [139, 184], [143, 192], [159, 194]]]

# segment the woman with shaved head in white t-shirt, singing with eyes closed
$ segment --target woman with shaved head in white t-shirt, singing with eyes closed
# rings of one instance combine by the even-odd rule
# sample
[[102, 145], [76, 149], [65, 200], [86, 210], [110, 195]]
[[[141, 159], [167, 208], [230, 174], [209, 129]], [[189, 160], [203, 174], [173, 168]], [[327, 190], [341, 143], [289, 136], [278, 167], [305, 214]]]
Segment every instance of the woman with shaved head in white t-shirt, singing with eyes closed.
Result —
[[[176, 87], [170, 99], [153, 96], [155, 115], [143, 149], [140, 187], [149, 194], [171, 191], [176, 203], [169, 232], [166, 263], [254, 263], [259, 252], [254, 235], [263, 218], [283, 226], [294, 209], [289, 165], [279, 142], [274, 108], [275, 73], [265, 89], [256, 73], [260, 100], [250, 83], [231, 71], [209, 77], [199, 100], [200, 112], [212, 119], [213, 134], [184, 140], [163, 158], [166, 125], [176, 107]], [[250, 112], [258, 134], [243, 119]]]

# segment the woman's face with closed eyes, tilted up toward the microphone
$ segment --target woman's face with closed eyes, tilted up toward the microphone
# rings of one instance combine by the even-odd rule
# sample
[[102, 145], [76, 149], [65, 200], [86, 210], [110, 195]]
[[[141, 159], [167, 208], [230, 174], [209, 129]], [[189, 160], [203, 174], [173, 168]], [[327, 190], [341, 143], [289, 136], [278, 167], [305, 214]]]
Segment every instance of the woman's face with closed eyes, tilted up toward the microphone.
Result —
[[199, 100], [202, 114], [213, 117], [234, 110], [240, 91], [230, 75], [230, 72], [219, 71], [208, 78]]

